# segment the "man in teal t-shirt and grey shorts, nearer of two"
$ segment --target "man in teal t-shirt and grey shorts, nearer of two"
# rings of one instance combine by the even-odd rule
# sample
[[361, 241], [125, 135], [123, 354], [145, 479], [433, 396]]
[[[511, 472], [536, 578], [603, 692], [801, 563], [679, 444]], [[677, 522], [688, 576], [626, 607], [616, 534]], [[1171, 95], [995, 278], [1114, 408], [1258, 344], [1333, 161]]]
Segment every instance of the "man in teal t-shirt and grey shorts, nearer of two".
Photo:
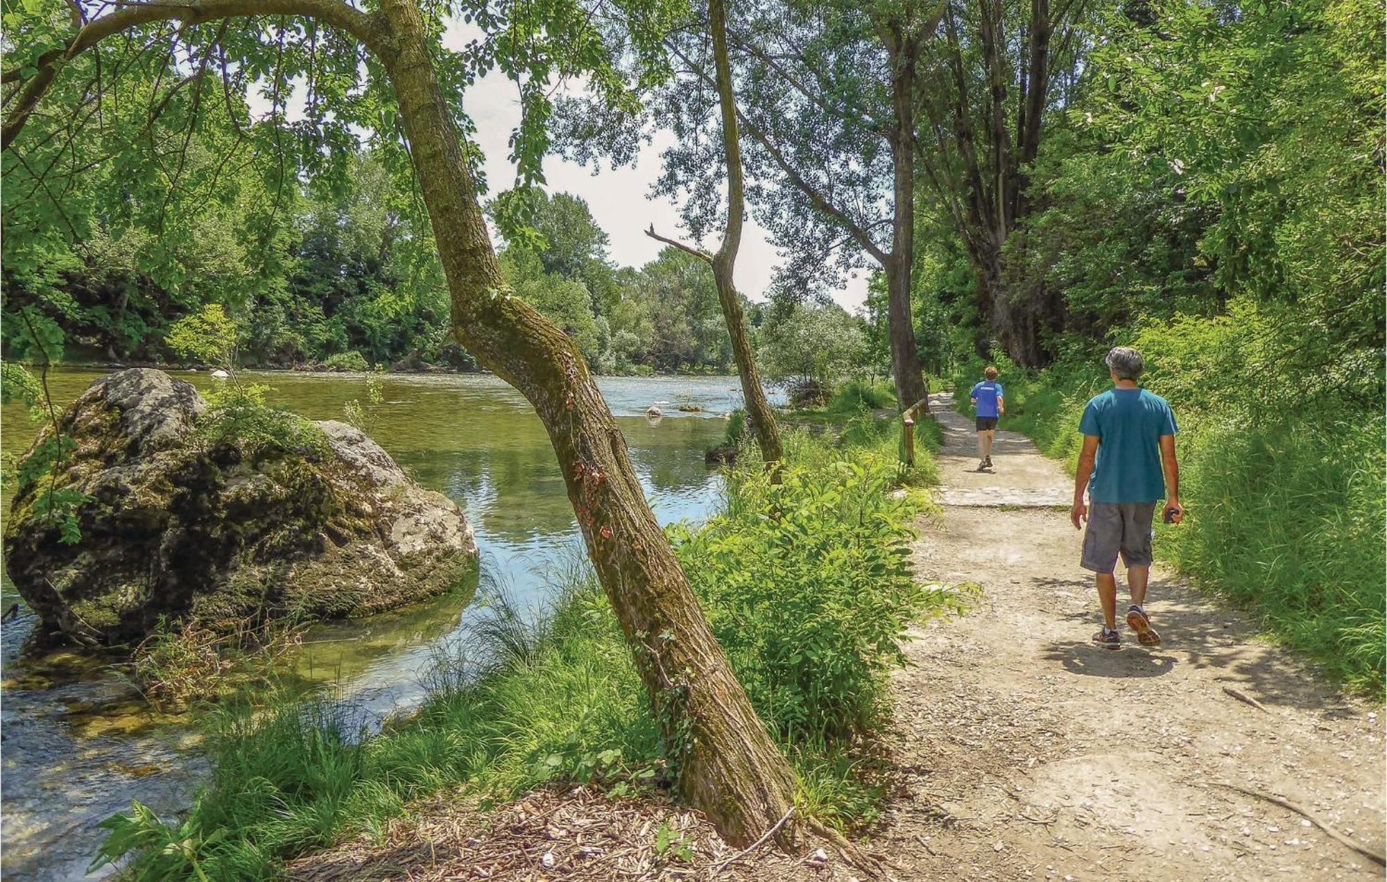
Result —
[[[1118, 587], [1112, 576], [1118, 555], [1128, 571], [1128, 625], [1143, 646], [1160, 646], [1161, 637], [1151, 627], [1143, 603], [1151, 574], [1151, 517], [1155, 503], [1165, 499], [1161, 512], [1166, 523], [1180, 523], [1180, 470], [1175, 462], [1175, 413], [1160, 395], [1137, 387], [1144, 362], [1142, 354], [1128, 347], [1108, 352], [1112, 388], [1096, 395], [1083, 408], [1079, 431], [1083, 451], [1074, 478], [1074, 509], [1069, 520], [1083, 534], [1085, 570], [1097, 574], [1099, 602], [1103, 605], [1103, 630], [1093, 642], [1104, 649], [1121, 649], [1117, 630]], [[1089, 491], [1089, 505], [1083, 491]]]

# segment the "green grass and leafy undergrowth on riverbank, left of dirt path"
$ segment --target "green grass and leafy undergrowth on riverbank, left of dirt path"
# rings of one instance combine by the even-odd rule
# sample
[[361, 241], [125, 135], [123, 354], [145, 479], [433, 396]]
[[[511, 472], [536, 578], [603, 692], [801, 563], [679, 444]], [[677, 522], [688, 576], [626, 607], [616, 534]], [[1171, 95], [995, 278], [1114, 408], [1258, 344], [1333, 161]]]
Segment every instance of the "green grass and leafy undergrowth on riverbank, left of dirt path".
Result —
[[[771, 485], [743, 441], [720, 514], [671, 531], [677, 553], [761, 718], [798, 772], [798, 803], [850, 828], [886, 793], [864, 743], [886, 724], [899, 638], [946, 598], [906, 566], [927, 483], [897, 460], [892, 420], [856, 417], [828, 442], [786, 433]], [[259, 879], [283, 861], [387, 821], [440, 792], [505, 800], [549, 782], [664, 792], [662, 752], [626, 639], [584, 564], [559, 574], [548, 616], [522, 621], [495, 599], [440, 655], [417, 713], [368, 735], [329, 695], [223, 703], [208, 717], [212, 774], [187, 817], [143, 806], [107, 822], [101, 860], [133, 856], [137, 879]]]

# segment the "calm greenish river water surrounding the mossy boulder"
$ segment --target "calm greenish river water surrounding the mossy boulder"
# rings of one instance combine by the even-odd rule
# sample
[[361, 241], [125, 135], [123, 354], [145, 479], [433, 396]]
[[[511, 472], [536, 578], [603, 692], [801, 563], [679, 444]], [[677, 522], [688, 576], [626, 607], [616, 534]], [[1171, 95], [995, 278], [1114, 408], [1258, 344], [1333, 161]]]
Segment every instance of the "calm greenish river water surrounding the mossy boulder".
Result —
[[[55, 372], [55, 402], [67, 405], [98, 376]], [[175, 376], [200, 388], [214, 383], [207, 374]], [[366, 398], [359, 376], [247, 376], [273, 386], [272, 401], [309, 419], [341, 419], [347, 401]], [[703, 465], [703, 451], [723, 435], [721, 415], [741, 404], [736, 379], [606, 377], [599, 386], [660, 521], [705, 517], [717, 501], [718, 478]], [[388, 376], [383, 392], [372, 437], [420, 484], [467, 512], [487, 571], [524, 609], [541, 609], [548, 596], [544, 573], [571, 559], [578, 531], [538, 417], [519, 392], [487, 376]], [[663, 420], [645, 419], [653, 402], [667, 402]], [[681, 413], [680, 404], [707, 412]], [[22, 453], [33, 434], [22, 408], [4, 408], [4, 451]], [[8, 496], [3, 503], [8, 508]], [[8, 581], [3, 600], [6, 609], [18, 600]], [[422, 695], [419, 675], [433, 655], [465, 627], [465, 603], [440, 598], [394, 614], [319, 625], [298, 667], [330, 682], [368, 717], [408, 709]], [[132, 799], [176, 811], [187, 804], [205, 764], [193, 732], [150, 713], [101, 659], [26, 655], [22, 643], [33, 624], [25, 609], [0, 631], [0, 872], [14, 879], [82, 878], [101, 840], [97, 822]]]

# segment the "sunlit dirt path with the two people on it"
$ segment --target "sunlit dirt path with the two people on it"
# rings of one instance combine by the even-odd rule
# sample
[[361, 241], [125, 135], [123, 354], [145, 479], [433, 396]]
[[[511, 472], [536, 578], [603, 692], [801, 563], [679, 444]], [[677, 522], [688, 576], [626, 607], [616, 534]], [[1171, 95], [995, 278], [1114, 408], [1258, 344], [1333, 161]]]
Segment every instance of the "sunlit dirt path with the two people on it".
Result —
[[1071, 478], [1013, 433], [999, 433], [994, 473], [972, 472], [971, 420], [947, 395], [933, 410], [943, 509], [917, 564], [981, 594], [915, 634], [896, 682], [904, 786], [872, 836], [896, 875], [1381, 878], [1298, 814], [1214, 786], [1282, 795], [1380, 850], [1381, 714], [1166, 573], [1147, 598], [1164, 646], [1092, 648], [1097, 596], [1078, 567]]

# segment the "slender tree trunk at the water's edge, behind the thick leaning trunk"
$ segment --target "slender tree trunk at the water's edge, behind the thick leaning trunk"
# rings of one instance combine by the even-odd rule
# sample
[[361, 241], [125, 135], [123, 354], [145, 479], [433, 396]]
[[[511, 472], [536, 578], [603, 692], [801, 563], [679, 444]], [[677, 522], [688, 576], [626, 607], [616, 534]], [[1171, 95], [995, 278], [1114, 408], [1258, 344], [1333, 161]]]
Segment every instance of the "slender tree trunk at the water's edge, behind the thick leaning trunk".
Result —
[[[717, 100], [723, 111], [723, 155], [727, 158], [727, 227], [723, 232], [723, 247], [713, 255], [713, 280], [717, 283], [717, 300], [723, 304], [723, 318], [727, 320], [727, 334], [732, 338], [732, 355], [736, 359], [736, 374], [742, 380], [742, 399], [746, 402], [746, 416], [752, 420], [756, 441], [761, 447], [761, 459], [778, 473], [781, 459], [779, 430], [775, 416], [766, 401], [766, 390], [756, 373], [756, 356], [746, 336], [746, 316], [742, 301], [736, 295], [732, 269], [736, 265], [736, 251], [742, 245], [742, 214], [745, 196], [742, 187], [742, 144], [736, 130], [736, 104], [732, 92], [732, 68], [727, 57], [727, 12], [723, 0], [709, 0], [709, 29], [713, 32], [713, 67], [717, 80]], [[778, 480], [778, 478], [777, 478]]]

